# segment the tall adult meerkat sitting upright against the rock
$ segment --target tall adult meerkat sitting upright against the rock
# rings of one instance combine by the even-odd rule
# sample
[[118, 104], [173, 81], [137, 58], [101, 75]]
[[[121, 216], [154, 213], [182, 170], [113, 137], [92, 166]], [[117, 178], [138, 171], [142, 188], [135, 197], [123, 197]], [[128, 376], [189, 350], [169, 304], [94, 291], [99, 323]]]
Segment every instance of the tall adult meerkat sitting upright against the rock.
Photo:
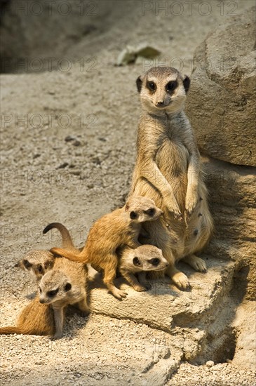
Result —
[[206, 271], [206, 263], [194, 253], [202, 250], [213, 230], [200, 154], [184, 113], [190, 81], [172, 67], [154, 67], [136, 83], [142, 115], [130, 197], [149, 197], [163, 210], [161, 218], [145, 223], [150, 238], [141, 240], [162, 249], [170, 262], [166, 274], [180, 288], [188, 288], [189, 280], [175, 262], [183, 259]]

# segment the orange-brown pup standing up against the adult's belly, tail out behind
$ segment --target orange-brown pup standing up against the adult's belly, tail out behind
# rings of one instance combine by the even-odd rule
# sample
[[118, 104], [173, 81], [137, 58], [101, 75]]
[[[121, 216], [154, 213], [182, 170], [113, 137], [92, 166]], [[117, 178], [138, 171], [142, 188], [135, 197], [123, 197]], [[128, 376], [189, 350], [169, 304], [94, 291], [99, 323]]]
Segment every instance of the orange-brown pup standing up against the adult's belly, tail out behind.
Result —
[[76, 254], [61, 248], [52, 248], [50, 251], [76, 262], [90, 262], [93, 268], [102, 269], [103, 281], [109, 292], [121, 300], [127, 293], [114, 286], [118, 265], [116, 249], [121, 246], [140, 246], [137, 238], [141, 223], [156, 220], [162, 213], [153, 200], [147, 197], [132, 197], [123, 208], [116, 209], [95, 222], [81, 253]]

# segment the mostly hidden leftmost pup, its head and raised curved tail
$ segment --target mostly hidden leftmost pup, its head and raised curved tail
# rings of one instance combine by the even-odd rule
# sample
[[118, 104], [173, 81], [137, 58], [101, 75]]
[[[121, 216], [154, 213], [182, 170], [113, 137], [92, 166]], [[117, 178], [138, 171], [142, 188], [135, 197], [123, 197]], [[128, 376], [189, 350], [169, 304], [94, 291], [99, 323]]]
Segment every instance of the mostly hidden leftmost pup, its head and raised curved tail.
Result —
[[[49, 224], [45, 229], [43, 229], [43, 233], [45, 234], [53, 228], [60, 231], [62, 237], [62, 248], [68, 249], [69, 251], [77, 251], [74, 247], [69, 231], [64, 225], [60, 224], [60, 222], [53, 222], [52, 224]], [[38, 249], [27, 253], [27, 255], [25, 255], [25, 257], [15, 265], [15, 267], [20, 267], [24, 271], [29, 272], [32, 274], [32, 277], [39, 282], [48, 270], [53, 269], [54, 262], [55, 255], [53, 255], [53, 253], [50, 253], [50, 251], [45, 249]]]

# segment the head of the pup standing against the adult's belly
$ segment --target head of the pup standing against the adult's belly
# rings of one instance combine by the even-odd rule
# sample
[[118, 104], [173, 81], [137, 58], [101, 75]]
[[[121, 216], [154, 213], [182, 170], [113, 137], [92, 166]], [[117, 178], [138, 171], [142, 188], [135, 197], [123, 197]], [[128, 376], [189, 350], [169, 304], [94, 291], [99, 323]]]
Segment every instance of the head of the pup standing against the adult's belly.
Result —
[[142, 196], [130, 197], [125, 208], [134, 222], [153, 221], [163, 214], [153, 200]]

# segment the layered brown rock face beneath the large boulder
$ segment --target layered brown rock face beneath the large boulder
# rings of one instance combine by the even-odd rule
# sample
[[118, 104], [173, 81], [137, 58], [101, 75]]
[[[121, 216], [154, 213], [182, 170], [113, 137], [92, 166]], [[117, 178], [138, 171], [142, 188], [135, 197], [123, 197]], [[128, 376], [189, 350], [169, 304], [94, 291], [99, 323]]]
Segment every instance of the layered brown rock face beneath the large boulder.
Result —
[[215, 222], [208, 251], [236, 262], [236, 285], [241, 284], [245, 298], [255, 300], [256, 170], [206, 157], [203, 168]]

